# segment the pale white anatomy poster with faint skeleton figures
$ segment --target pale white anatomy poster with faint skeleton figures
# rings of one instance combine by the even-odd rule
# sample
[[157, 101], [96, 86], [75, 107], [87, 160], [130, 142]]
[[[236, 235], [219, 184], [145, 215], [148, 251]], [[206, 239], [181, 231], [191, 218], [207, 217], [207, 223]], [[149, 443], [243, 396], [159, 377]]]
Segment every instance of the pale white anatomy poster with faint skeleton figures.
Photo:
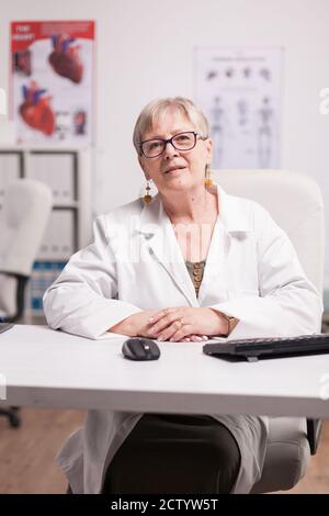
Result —
[[195, 98], [214, 142], [212, 168], [279, 168], [282, 48], [196, 48]]

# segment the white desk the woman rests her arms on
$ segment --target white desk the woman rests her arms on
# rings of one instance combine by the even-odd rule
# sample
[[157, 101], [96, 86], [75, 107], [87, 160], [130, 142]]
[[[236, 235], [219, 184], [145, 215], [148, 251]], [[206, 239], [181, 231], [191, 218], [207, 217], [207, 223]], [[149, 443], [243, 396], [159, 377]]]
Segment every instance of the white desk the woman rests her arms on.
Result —
[[18, 325], [0, 334], [5, 403], [329, 416], [329, 401], [320, 399], [321, 378], [329, 377], [329, 355], [231, 363], [203, 355], [203, 344], [159, 343], [159, 360], [133, 362], [121, 355], [123, 341], [121, 336], [89, 340], [44, 326]]

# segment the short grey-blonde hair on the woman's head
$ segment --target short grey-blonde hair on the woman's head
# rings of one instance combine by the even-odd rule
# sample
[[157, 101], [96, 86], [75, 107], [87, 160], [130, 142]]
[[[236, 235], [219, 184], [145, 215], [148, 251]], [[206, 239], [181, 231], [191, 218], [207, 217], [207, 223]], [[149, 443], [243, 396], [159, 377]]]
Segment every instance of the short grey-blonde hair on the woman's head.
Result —
[[140, 154], [139, 144], [143, 141], [145, 133], [150, 131], [155, 125], [155, 122], [157, 122], [161, 114], [170, 108], [174, 108], [186, 116], [201, 136], [204, 138], [208, 137], [209, 123], [203, 111], [195, 105], [192, 100], [185, 99], [184, 97], [155, 99], [141, 110], [135, 124], [133, 142], [137, 154]]

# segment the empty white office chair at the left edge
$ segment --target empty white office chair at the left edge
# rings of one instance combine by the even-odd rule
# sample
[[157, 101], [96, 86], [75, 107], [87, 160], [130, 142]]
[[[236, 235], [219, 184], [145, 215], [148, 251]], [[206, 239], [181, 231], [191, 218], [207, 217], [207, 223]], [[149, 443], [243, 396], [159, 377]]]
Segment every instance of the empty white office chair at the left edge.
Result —
[[[13, 323], [24, 312], [24, 291], [52, 210], [52, 191], [38, 181], [12, 181], [0, 211], [0, 321]], [[16, 407], [1, 408], [12, 427]]]

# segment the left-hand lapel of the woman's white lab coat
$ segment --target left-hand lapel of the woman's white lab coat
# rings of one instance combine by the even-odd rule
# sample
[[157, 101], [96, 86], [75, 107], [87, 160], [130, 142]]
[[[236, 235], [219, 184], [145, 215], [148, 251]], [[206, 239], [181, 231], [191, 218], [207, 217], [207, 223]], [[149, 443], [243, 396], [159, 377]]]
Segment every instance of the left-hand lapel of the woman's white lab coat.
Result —
[[[173, 227], [163, 205], [156, 195], [144, 206], [139, 226], [141, 245], [147, 247], [150, 258], [156, 259], [168, 272], [191, 306], [198, 306], [194, 285], [186, 269]], [[170, 301], [170, 300], [168, 300]]]

